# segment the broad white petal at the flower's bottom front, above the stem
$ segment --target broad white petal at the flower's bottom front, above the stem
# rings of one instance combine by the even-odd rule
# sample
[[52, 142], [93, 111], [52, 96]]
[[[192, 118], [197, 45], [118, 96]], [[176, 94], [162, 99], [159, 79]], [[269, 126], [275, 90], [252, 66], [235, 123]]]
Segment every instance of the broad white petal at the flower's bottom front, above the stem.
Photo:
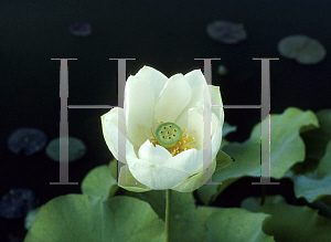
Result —
[[132, 176], [154, 190], [171, 189], [189, 177], [184, 171], [153, 165], [142, 159], [127, 157], [127, 160]]

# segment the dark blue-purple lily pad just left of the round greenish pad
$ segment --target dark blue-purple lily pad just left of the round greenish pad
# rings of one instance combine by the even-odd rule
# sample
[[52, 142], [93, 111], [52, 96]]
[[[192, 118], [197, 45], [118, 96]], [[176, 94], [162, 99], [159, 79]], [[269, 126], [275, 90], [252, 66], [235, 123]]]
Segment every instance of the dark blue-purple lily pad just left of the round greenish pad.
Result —
[[18, 128], [8, 138], [8, 148], [14, 154], [24, 150], [25, 156], [31, 156], [46, 145], [47, 136], [38, 128]]

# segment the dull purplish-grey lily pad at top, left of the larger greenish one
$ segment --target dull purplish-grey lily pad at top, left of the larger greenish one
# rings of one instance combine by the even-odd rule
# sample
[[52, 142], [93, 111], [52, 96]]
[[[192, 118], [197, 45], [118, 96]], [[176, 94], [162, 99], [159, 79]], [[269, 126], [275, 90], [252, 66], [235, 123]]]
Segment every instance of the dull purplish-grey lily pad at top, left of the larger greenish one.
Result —
[[206, 27], [210, 38], [224, 44], [237, 44], [247, 39], [247, 33], [242, 23], [215, 21]]

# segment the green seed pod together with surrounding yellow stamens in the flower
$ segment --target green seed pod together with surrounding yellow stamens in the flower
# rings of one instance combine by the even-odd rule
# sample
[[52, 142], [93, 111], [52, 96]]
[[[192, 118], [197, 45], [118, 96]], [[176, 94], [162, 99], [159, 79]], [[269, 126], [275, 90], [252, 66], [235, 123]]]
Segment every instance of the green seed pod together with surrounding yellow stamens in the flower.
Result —
[[192, 149], [192, 147], [186, 146], [186, 144], [194, 141], [194, 138], [192, 136], [189, 137], [188, 135], [182, 136], [186, 129], [182, 131], [174, 123], [168, 122], [160, 124], [156, 130], [156, 135], [153, 134], [152, 128], [150, 128], [150, 130], [153, 136], [150, 141], [153, 146], [163, 146], [172, 156]]

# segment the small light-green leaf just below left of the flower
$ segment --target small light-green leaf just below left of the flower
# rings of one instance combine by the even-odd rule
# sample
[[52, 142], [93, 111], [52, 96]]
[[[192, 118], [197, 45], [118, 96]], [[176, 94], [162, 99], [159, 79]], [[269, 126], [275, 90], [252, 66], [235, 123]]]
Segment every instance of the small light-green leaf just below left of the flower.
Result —
[[118, 186], [117, 179], [110, 172], [110, 169], [115, 169], [116, 161], [109, 162], [109, 166], [103, 165], [92, 169], [82, 182], [82, 192], [93, 197], [102, 197], [103, 200], [111, 198]]

